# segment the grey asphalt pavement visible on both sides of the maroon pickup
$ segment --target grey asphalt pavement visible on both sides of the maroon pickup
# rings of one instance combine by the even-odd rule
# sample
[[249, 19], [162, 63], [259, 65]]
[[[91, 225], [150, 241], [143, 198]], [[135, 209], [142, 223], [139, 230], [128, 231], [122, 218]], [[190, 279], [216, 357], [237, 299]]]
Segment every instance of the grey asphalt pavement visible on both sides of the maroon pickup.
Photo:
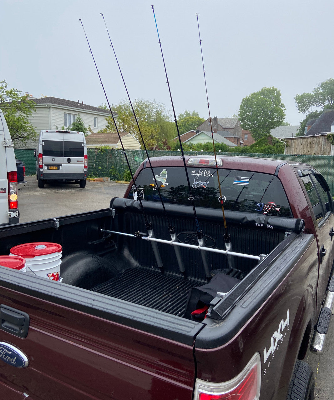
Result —
[[[126, 184], [87, 181], [86, 188], [78, 184], [45, 185], [38, 189], [36, 176], [26, 177], [27, 186], [19, 191], [20, 222], [54, 218], [68, 214], [108, 208], [113, 197], [123, 197]], [[333, 398], [334, 372], [334, 319], [326, 339], [324, 354], [317, 356], [308, 351], [304, 361], [312, 365], [316, 378], [316, 398]], [[283, 399], [282, 399], [283, 400]]]

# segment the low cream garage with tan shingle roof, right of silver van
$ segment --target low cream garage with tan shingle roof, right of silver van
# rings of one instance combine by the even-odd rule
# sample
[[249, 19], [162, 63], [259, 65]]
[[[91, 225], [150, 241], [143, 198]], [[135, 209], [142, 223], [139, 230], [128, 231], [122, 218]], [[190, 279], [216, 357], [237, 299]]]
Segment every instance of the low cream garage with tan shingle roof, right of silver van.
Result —
[[[129, 132], [120, 132], [121, 140], [125, 149], [140, 150], [139, 141]], [[108, 146], [114, 149], [122, 148], [121, 141], [116, 132], [92, 133], [86, 137], [87, 148], [99, 148]]]

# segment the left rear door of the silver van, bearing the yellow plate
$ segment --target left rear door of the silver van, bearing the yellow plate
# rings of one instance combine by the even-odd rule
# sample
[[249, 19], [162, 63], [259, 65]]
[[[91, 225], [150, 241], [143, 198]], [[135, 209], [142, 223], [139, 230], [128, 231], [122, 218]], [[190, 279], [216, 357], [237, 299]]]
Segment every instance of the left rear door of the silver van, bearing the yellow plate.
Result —
[[42, 133], [44, 177], [64, 178], [64, 135], [60, 132]]

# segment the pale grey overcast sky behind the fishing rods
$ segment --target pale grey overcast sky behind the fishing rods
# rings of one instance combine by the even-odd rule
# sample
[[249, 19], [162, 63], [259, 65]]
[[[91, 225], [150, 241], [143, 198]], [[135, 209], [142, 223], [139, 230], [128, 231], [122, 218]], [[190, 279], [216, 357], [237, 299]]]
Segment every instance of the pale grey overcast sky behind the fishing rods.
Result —
[[106, 103], [81, 18], [109, 102], [127, 98], [102, 12], [131, 100], [171, 110], [151, 4], [177, 115], [208, 118], [196, 13], [211, 117], [237, 114], [245, 96], [275, 86], [298, 125], [294, 96], [334, 78], [330, 0], [0, 0], [0, 80], [37, 98]]

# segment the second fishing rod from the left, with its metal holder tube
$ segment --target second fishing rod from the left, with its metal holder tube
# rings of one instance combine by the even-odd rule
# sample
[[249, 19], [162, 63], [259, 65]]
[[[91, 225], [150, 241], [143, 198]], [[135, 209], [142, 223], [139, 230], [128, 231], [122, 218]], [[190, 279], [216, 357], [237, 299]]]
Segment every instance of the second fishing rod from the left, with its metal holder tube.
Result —
[[[144, 149], [145, 149], [145, 153], [146, 153], [146, 156], [147, 156], [147, 160], [148, 160], [148, 162], [149, 162], [149, 166], [150, 166], [150, 168], [151, 168], [152, 175], [153, 175], [153, 179], [154, 179], [154, 182], [155, 182], [155, 187], [157, 188], [157, 191], [158, 191], [158, 194], [159, 194], [159, 197], [160, 197], [160, 201], [161, 201], [161, 204], [162, 204], [162, 207], [163, 207], [163, 211], [164, 211], [164, 213], [165, 213], [165, 218], [166, 218], [166, 220], [167, 220], [169, 234], [171, 235], [172, 241], [178, 242], [177, 235], [176, 235], [176, 232], [175, 232], [175, 226], [172, 226], [172, 225], [171, 225], [171, 223], [170, 223], [170, 221], [169, 221], [169, 218], [168, 218], [168, 215], [167, 215], [167, 211], [166, 211], [166, 208], [165, 208], [165, 204], [164, 204], [163, 199], [162, 199], [162, 196], [161, 196], [161, 192], [160, 192], [159, 185], [158, 185], [158, 182], [157, 182], [157, 179], [156, 179], [154, 170], [153, 170], [153, 166], [152, 166], [152, 164], [151, 164], [151, 160], [150, 160], [150, 157], [149, 157], [149, 153], [147, 152], [147, 148], [146, 148], [146, 145], [145, 145], [145, 141], [144, 141], [143, 135], [142, 135], [142, 133], [141, 133], [141, 129], [140, 129], [140, 126], [139, 126], [139, 123], [138, 123], [138, 120], [137, 120], [137, 116], [136, 116], [135, 110], [134, 110], [134, 108], [133, 108], [133, 105], [132, 105], [132, 102], [131, 102], [131, 98], [130, 98], [129, 92], [128, 92], [128, 90], [127, 90], [127, 85], [125, 84], [125, 80], [124, 80], [124, 78], [123, 78], [123, 74], [122, 74], [121, 67], [120, 67], [120, 65], [119, 65], [119, 62], [118, 62], [118, 59], [117, 59], [117, 56], [116, 56], [116, 52], [115, 52], [113, 43], [111, 42], [111, 37], [110, 37], [110, 35], [109, 35], [109, 30], [108, 30], [107, 24], [106, 24], [106, 22], [105, 22], [105, 17], [103, 16], [102, 12], [100, 12], [100, 14], [102, 15], [103, 21], [104, 21], [104, 23], [105, 23], [105, 27], [106, 27], [106, 30], [107, 30], [107, 34], [108, 34], [109, 40], [110, 40], [110, 45], [111, 45], [111, 47], [112, 47], [112, 49], [113, 49], [113, 52], [114, 52], [114, 55], [115, 55], [115, 58], [116, 58], [116, 62], [117, 62], [117, 66], [118, 66], [118, 68], [119, 68], [119, 72], [120, 72], [120, 74], [121, 74], [121, 77], [122, 77], [122, 80], [123, 80], [123, 83], [124, 83], [125, 91], [127, 92], [127, 96], [128, 96], [128, 99], [129, 99], [129, 102], [130, 102], [130, 105], [131, 105], [131, 109], [132, 109], [132, 112], [133, 112], [133, 116], [135, 117], [135, 121], [136, 121], [136, 124], [137, 124], [137, 128], [138, 128], [138, 131], [139, 131], [141, 140], [142, 140], [142, 142], [143, 142], [143, 146], [144, 146]], [[175, 250], [175, 255], [176, 255], [176, 258], [177, 258], [177, 263], [179, 264], [179, 270], [180, 270], [181, 274], [183, 274], [183, 276], [185, 277], [185, 266], [184, 266], [184, 264], [183, 264], [183, 260], [182, 260], [182, 256], [181, 256], [181, 250], [180, 250], [179, 247], [175, 247], [175, 246], [174, 246], [174, 250]]]

